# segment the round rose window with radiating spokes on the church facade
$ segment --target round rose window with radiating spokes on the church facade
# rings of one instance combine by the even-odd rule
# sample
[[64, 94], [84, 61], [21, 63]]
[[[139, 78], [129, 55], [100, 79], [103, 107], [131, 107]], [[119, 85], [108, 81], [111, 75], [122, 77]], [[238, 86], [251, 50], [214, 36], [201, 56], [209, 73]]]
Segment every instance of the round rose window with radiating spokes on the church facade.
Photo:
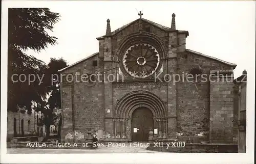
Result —
[[133, 77], [145, 78], [159, 67], [159, 53], [149, 44], [135, 44], [128, 48], [123, 56], [123, 66]]

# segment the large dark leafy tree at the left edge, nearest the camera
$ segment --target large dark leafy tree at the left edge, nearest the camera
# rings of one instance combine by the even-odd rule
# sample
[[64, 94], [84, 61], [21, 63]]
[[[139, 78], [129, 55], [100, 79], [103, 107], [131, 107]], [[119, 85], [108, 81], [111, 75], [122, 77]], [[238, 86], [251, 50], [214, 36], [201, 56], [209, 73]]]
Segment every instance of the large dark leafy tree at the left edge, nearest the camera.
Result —
[[[49, 45], [57, 44], [57, 38], [50, 36], [53, 25], [59, 21], [60, 15], [48, 8], [9, 8], [8, 10], [8, 110], [17, 111], [18, 107], [26, 107], [31, 112], [32, 101], [42, 103], [49, 92], [47, 84], [40, 84], [36, 78], [30, 85], [12, 79], [12, 75], [29, 74], [42, 77], [47, 65], [26, 50], [36, 52], [46, 49]], [[24, 77], [24, 76], [23, 76]], [[14, 83], [13, 80], [18, 80]], [[27, 81], [26, 81], [27, 82]], [[39, 85], [40, 84], [40, 85]]]

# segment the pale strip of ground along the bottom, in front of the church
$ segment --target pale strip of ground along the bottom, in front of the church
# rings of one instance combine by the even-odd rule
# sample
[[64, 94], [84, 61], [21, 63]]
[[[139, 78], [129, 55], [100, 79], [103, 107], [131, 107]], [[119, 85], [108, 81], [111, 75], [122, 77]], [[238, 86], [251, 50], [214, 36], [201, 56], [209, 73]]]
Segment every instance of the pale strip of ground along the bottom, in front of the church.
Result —
[[97, 149], [7, 149], [8, 154], [54, 154], [54, 153], [163, 153], [158, 151], [146, 150], [146, 147], [134, 147], [125, 144], [125, 147], [104, 146]]

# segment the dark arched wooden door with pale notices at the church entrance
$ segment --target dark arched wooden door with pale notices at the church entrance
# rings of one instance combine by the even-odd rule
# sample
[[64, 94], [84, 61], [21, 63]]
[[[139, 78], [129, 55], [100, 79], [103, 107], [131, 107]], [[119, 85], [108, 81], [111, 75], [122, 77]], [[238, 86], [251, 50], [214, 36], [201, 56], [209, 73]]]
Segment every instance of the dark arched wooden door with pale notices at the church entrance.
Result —
[[137, 108], [132, 114], [132, 141], [148, 141], [153, 125], [152, 112], [145, 107]]

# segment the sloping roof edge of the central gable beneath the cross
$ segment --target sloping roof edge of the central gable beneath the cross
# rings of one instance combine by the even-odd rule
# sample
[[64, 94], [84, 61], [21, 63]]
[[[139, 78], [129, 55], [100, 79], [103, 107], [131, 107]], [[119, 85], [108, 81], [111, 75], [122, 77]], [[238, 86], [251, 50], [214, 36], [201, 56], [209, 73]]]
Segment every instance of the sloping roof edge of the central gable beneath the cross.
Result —
[[[123, 29], [125, 29], [127, 26], [133, 24], [134, 22], [136, 22], [136, 21], [138, 21], [138, 20], [140, 20], [140, 18], [138, 18], [138, 19], [136, 19], [136, 20], [134, 20], [134, 21], [132, 21], [132, 22], [130, 22], [130, 23], [127, 23], [127, 24], [121, 26], [121, 28], [119, 28], [119, 29], [117, 29], [117, 30], [111, 32], [110, 36], [113, 36], [113, 35], [117, 34], [118, 32], [120, 32], [120, 31], [122, 31]], [[146, 22], [146, 23], [148, 23], [148, 24], [151, 24], [151, 25], [153, 25], [153, 26], [156, 26], [157, 28], [159, 28], [159, 29], [161, 29], [161, 30], [163, 30], [163, 31], [166, 31], [166, 32], [167, 32], [167, 31], [176, 31], [176, 30], [174, 30], [174, 29], [168, 28], [167, 26], [164, 26], [164, 25], [155, 23], [155, 22], [153, 22], [153, 21], [151, 21], [151, 20], [147, 20], [147, 19], [144, 19], [144, 18], [141, 18], [141, 20], [144, 21], [144, 22]], [[180, 31], [180, 30], [178, 30], [178, 33], [185, 33], [186, 36], [188, 36], [188, 31]], [[103, 35], [103, 36], [101, 36], [101, 37], [98, 37], [98, 38], [96, 38], [96, 39], [102, 39], [102, 38], [104, 38], [104, 37], [105, 37], [105, 35]]]

